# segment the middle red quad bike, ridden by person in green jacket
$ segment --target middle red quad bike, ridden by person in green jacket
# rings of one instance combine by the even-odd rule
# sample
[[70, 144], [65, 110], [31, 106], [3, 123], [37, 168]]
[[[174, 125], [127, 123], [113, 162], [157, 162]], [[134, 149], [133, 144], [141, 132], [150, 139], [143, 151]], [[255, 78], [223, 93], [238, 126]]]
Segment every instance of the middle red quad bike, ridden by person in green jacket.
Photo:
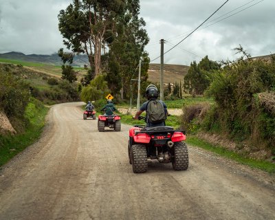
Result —
[[104, 131], [105, 126], [115, 131], [120, 131], [120, 115], [98, 115], [98, 131]]

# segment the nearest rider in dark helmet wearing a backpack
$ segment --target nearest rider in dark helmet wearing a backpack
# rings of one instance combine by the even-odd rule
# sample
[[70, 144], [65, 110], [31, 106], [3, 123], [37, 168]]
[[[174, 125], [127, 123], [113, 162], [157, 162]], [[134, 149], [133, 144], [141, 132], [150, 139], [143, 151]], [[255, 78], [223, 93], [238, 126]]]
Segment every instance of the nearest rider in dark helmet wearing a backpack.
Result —
[[162, 100], [158, 100], [159, 93], [155, 85], [148, 85], [146, 88], [146, 98], [140, 110], [135, 113], [133, 119], [138, 119], [143, 111], [146, 111], [146, 126], [165, 126], [166, 116], [168, 115], [167, 106]]

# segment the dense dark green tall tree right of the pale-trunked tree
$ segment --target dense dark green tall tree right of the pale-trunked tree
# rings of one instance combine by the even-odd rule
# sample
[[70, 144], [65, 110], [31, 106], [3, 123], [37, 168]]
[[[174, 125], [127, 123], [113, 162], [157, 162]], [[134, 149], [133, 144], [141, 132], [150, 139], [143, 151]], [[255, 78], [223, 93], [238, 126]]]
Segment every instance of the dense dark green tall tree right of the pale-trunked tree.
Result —
[[[124, 14], [115, 26], [116, 36], [111, 42], [109, 50], [109, 77], [107, 81], [114, 92], [121, 89], [122, 98], [130, 96], [131, 78], [137, 78], [140, 58], [142, 58], [141, 81], [145, 87], [148, 79], [148, 53], [144, 47], [148, 44], [148, 35], [144, 29], [146, 23], [139, 18], [140, 1], [128, 0]], [[116, 78], [113, 77], [116, 75]], [[136, 83], [133, 87], [137, 87]]]

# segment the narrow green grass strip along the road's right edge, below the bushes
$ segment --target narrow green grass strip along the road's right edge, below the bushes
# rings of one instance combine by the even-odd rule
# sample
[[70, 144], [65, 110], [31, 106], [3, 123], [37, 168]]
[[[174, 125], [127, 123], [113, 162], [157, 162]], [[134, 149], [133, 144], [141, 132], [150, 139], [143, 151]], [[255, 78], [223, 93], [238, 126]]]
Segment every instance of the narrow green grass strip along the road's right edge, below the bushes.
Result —
[[273, 164], [271, 162], [243, 157], [237, 153], [229, 151], [226, 148], [223, 148], [222, 146], [210, 144], [210, 143], [203, 141], [195, 136], [187, 136], [186, 143], [206, 149], [207, 151], [217, 153], [218, 155], [221, 155], [228, 159], [232, 159], [236, 162], [239, 162], [240, 164], [245, 164], [252, 168], [259, 168], [261, 170], [266, 171], [267, 173], [275, 173], [275, 164]]

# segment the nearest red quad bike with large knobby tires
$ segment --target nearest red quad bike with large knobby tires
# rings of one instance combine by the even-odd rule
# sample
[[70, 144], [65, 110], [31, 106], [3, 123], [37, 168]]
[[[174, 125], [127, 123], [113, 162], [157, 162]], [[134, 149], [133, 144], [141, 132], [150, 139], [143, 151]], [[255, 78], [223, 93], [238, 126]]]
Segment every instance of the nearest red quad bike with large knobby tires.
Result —
[[172, 162], [174, 170], [187, 170], [189, 159], [184, 140], [185, 131], [174, 130], [171, 126], [133, 126], [129, 130], [128, 144], [133, 173], [145, 173], [147, 159], [157, 159], [159, 163]]

